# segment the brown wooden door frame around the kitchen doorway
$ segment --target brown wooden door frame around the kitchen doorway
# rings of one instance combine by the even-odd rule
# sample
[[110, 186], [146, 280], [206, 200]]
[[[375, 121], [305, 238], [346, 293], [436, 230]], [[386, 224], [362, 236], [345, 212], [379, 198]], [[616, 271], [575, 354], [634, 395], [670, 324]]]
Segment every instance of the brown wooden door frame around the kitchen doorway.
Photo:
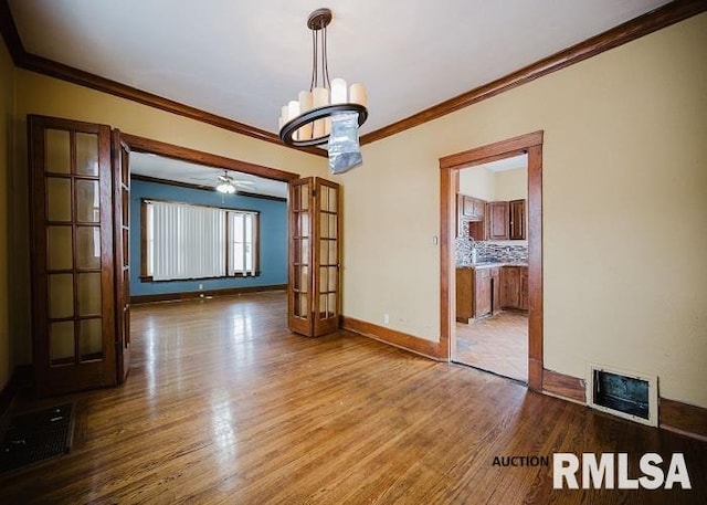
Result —
[[455, 251], [458, 171], [528, 155], [528, 388], [542, 390], [542, 130], [440, 158], [440, 344], [449, 361], [456, 320]]

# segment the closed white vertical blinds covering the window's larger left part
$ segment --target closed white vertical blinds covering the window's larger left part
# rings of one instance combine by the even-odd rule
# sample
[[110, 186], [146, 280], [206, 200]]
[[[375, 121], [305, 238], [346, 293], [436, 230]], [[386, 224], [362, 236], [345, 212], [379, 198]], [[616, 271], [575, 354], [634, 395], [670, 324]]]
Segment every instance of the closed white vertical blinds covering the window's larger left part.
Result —
[[151, 207], [148, 266], [155, 281], [225, 275], [222, 209], [158, 201], [148, 207]]

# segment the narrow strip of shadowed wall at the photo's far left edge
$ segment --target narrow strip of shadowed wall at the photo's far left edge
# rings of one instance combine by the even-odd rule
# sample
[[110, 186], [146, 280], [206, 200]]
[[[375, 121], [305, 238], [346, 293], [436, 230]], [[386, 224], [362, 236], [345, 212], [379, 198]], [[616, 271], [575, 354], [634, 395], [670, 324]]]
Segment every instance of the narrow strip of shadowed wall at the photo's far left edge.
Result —
[[0, 38], [0, 391], [12, 375], [12, 344], [10, 341], [8, 221], [10, 209], [10, 166], [14, 117], [14, 66]]

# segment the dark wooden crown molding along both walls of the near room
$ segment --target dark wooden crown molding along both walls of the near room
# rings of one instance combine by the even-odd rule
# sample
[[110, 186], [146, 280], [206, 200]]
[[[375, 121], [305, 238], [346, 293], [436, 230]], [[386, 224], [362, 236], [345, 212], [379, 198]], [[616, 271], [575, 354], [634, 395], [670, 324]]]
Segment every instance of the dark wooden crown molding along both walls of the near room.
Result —
[[[466, 93], [434, 105], [404, 119], [392, 123], [383, 128], [368, 133], [360, 137], [360, 144], [366, 145], [380, 140], [391, 135], [399, 134], [430, 120], [445, 116], [461, 108], [468, 107], [484, 99], [507, 92], [538, 77], [557, 72], [567, 66], [579, 63], [589, 57], [601, 54], [610, 49], [618, 48], [641, 36], [653, 33], [663, 28], [675, 24], [693, 15], [707, 10], [707, 0], [675, 0], [671, 3], [640, 15], [619, 27], [612, 28], [599, 35], [587, 39], [579, 44], [555, 53], [546, 59], [531, 63], [511, 74], [494, 82], [471, 90]], [[146, 93], [125, 84], [117, 83], [88, 72], [74, 69], [62, 63], [48, 60], [35, 54], [28, 53], [22, 45], [22, 40], [12, 19], [12, 12], [8, 0], [0, 0], [0, 32], [4, 39], [8, 51], [15, 66], [40, 74], [56, 77], [81, 86], [108, 93], [122, 98], [127, 98], [144, 105], [159, 108], [172, 114], [188, 117], [201, 123], [207, 123], [236, 134], [246, 135], [258, 140], [283, 146], [276, 134], [265, 131], [253, 126], [238, 123], [215, 114], [211, 114], [189, 105], [180, 104], [161, 96]], [[303, 147], [297, 150], [312, 155], [327, 157], [327, 151], [316, 147]]]

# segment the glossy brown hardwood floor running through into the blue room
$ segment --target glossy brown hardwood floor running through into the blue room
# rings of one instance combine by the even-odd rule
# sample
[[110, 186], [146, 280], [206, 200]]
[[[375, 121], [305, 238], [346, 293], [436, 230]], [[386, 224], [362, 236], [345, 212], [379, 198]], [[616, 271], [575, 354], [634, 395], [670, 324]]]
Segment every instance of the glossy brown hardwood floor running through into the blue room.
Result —
[[[705, 443], [348, 332], [293, 335], [282, 293], [133, 322], [127, 383], [71, 397], [72, 452], [0, 475], [1, 504], [707, 503]], [[627, 452], [632, 475], [680, 452], [693, 488], [553, 490], [553, 452]]]

